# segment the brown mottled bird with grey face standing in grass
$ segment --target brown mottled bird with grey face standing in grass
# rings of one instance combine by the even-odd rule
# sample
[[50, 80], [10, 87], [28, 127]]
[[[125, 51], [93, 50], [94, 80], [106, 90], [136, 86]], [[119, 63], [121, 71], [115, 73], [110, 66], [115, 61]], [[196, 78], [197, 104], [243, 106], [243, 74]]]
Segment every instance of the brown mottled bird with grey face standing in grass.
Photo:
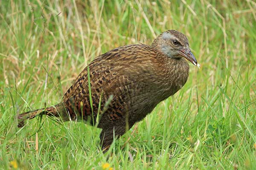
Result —
[[101, 128], [103, 151], [141, 121], [158, 103], [185, 85], [189, 63], [199, 64], [187, 37], [168, 30], [151, 45], [131, 44], [96, 57], [76, 78], [57, 105], [17, 115], [18, 127], [36, 116], [61, 121], [82, 119]]

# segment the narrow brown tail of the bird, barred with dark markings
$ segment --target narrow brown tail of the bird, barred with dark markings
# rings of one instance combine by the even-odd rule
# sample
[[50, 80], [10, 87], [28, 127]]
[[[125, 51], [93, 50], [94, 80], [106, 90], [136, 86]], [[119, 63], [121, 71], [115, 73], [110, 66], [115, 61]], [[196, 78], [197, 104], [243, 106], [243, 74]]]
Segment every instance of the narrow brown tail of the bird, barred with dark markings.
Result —
[[21, 113], [17, 116], [18, 127], [23, 127], [24, 120], [26, 120], [26, 119], [33, 119], [33, 118], [35, 118], [35, 116], [40, 116], [40, 115], [60, 117], [61, 114], [64, 113], [64, 111], [65, 111], [64, 103], [59, 103], [59, 104], [57, 104], [55, 106], [51, 106], [49, 108], [38, 109], [35, 111], [28, 111], [25, 113]]

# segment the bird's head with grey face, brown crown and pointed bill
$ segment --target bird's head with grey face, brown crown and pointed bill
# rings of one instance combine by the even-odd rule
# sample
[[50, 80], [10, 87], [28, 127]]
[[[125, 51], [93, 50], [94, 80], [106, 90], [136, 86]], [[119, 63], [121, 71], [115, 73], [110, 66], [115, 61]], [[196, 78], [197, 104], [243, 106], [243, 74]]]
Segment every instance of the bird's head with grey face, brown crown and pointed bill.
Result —
[[195, 56], [189, 48], [187, 37], [179, 31], [169, 30], [163, 32], [154, 40], [152, 46], [160, 50], [167, 57], [177, 59], [184, 57], [199, 67]]

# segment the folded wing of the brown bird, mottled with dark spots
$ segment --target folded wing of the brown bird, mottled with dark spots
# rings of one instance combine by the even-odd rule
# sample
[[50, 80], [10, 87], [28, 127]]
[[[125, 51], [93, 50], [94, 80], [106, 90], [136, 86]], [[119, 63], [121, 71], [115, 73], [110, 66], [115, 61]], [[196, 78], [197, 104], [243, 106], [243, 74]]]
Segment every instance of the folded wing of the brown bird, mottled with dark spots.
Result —
[[[101, 110], [112, 95], [113, 99], [105, 114], [109, 119], [119, 119], [125, 114], [125, 105], [128, 105], [128, 95], [132, 95], [137, 86], [136, 79], [129, 73], [133, 69], [131, 65], [140, 65], [140, 51], [148, 48], [146, 45], [125, 45], [102, 54], [89, 65], [90, 91], [92, 97], [93, 112], [97, 113], [99, 100], [102, 98]], [[143, 52], [144, 52], [143, 51]], [[149, 50], [148, 50], [149, 51]], [[148, 52], [149, 53], [149, 52]], [[147, 54], [147, 51], [145, 51]], [[87, 67], [76, 78], [75, 83], [67, 90], [63, 97], [64, 102], [74, 101], [73, 108], [83, 111], [84, 115], [91, 115], [90, 92]], [[137, 73], [134, 73], [137, 74]], [[81, 109], [82, 102], [82, 109]], [[72, 102], [70, 102], [72, 105]]]

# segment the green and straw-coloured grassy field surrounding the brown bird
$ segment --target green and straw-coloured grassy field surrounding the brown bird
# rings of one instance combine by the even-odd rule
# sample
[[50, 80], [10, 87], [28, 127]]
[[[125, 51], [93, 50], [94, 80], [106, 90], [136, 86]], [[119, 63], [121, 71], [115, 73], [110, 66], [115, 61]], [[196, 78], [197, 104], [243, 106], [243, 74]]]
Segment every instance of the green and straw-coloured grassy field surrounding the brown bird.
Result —
[[[93, 58], [176, 29], [201, 68], [103, 154], [100, 129], [16, 115], [61, 101]], [[252, 0], [0, 1], [0, 169], [255, 169]]]

